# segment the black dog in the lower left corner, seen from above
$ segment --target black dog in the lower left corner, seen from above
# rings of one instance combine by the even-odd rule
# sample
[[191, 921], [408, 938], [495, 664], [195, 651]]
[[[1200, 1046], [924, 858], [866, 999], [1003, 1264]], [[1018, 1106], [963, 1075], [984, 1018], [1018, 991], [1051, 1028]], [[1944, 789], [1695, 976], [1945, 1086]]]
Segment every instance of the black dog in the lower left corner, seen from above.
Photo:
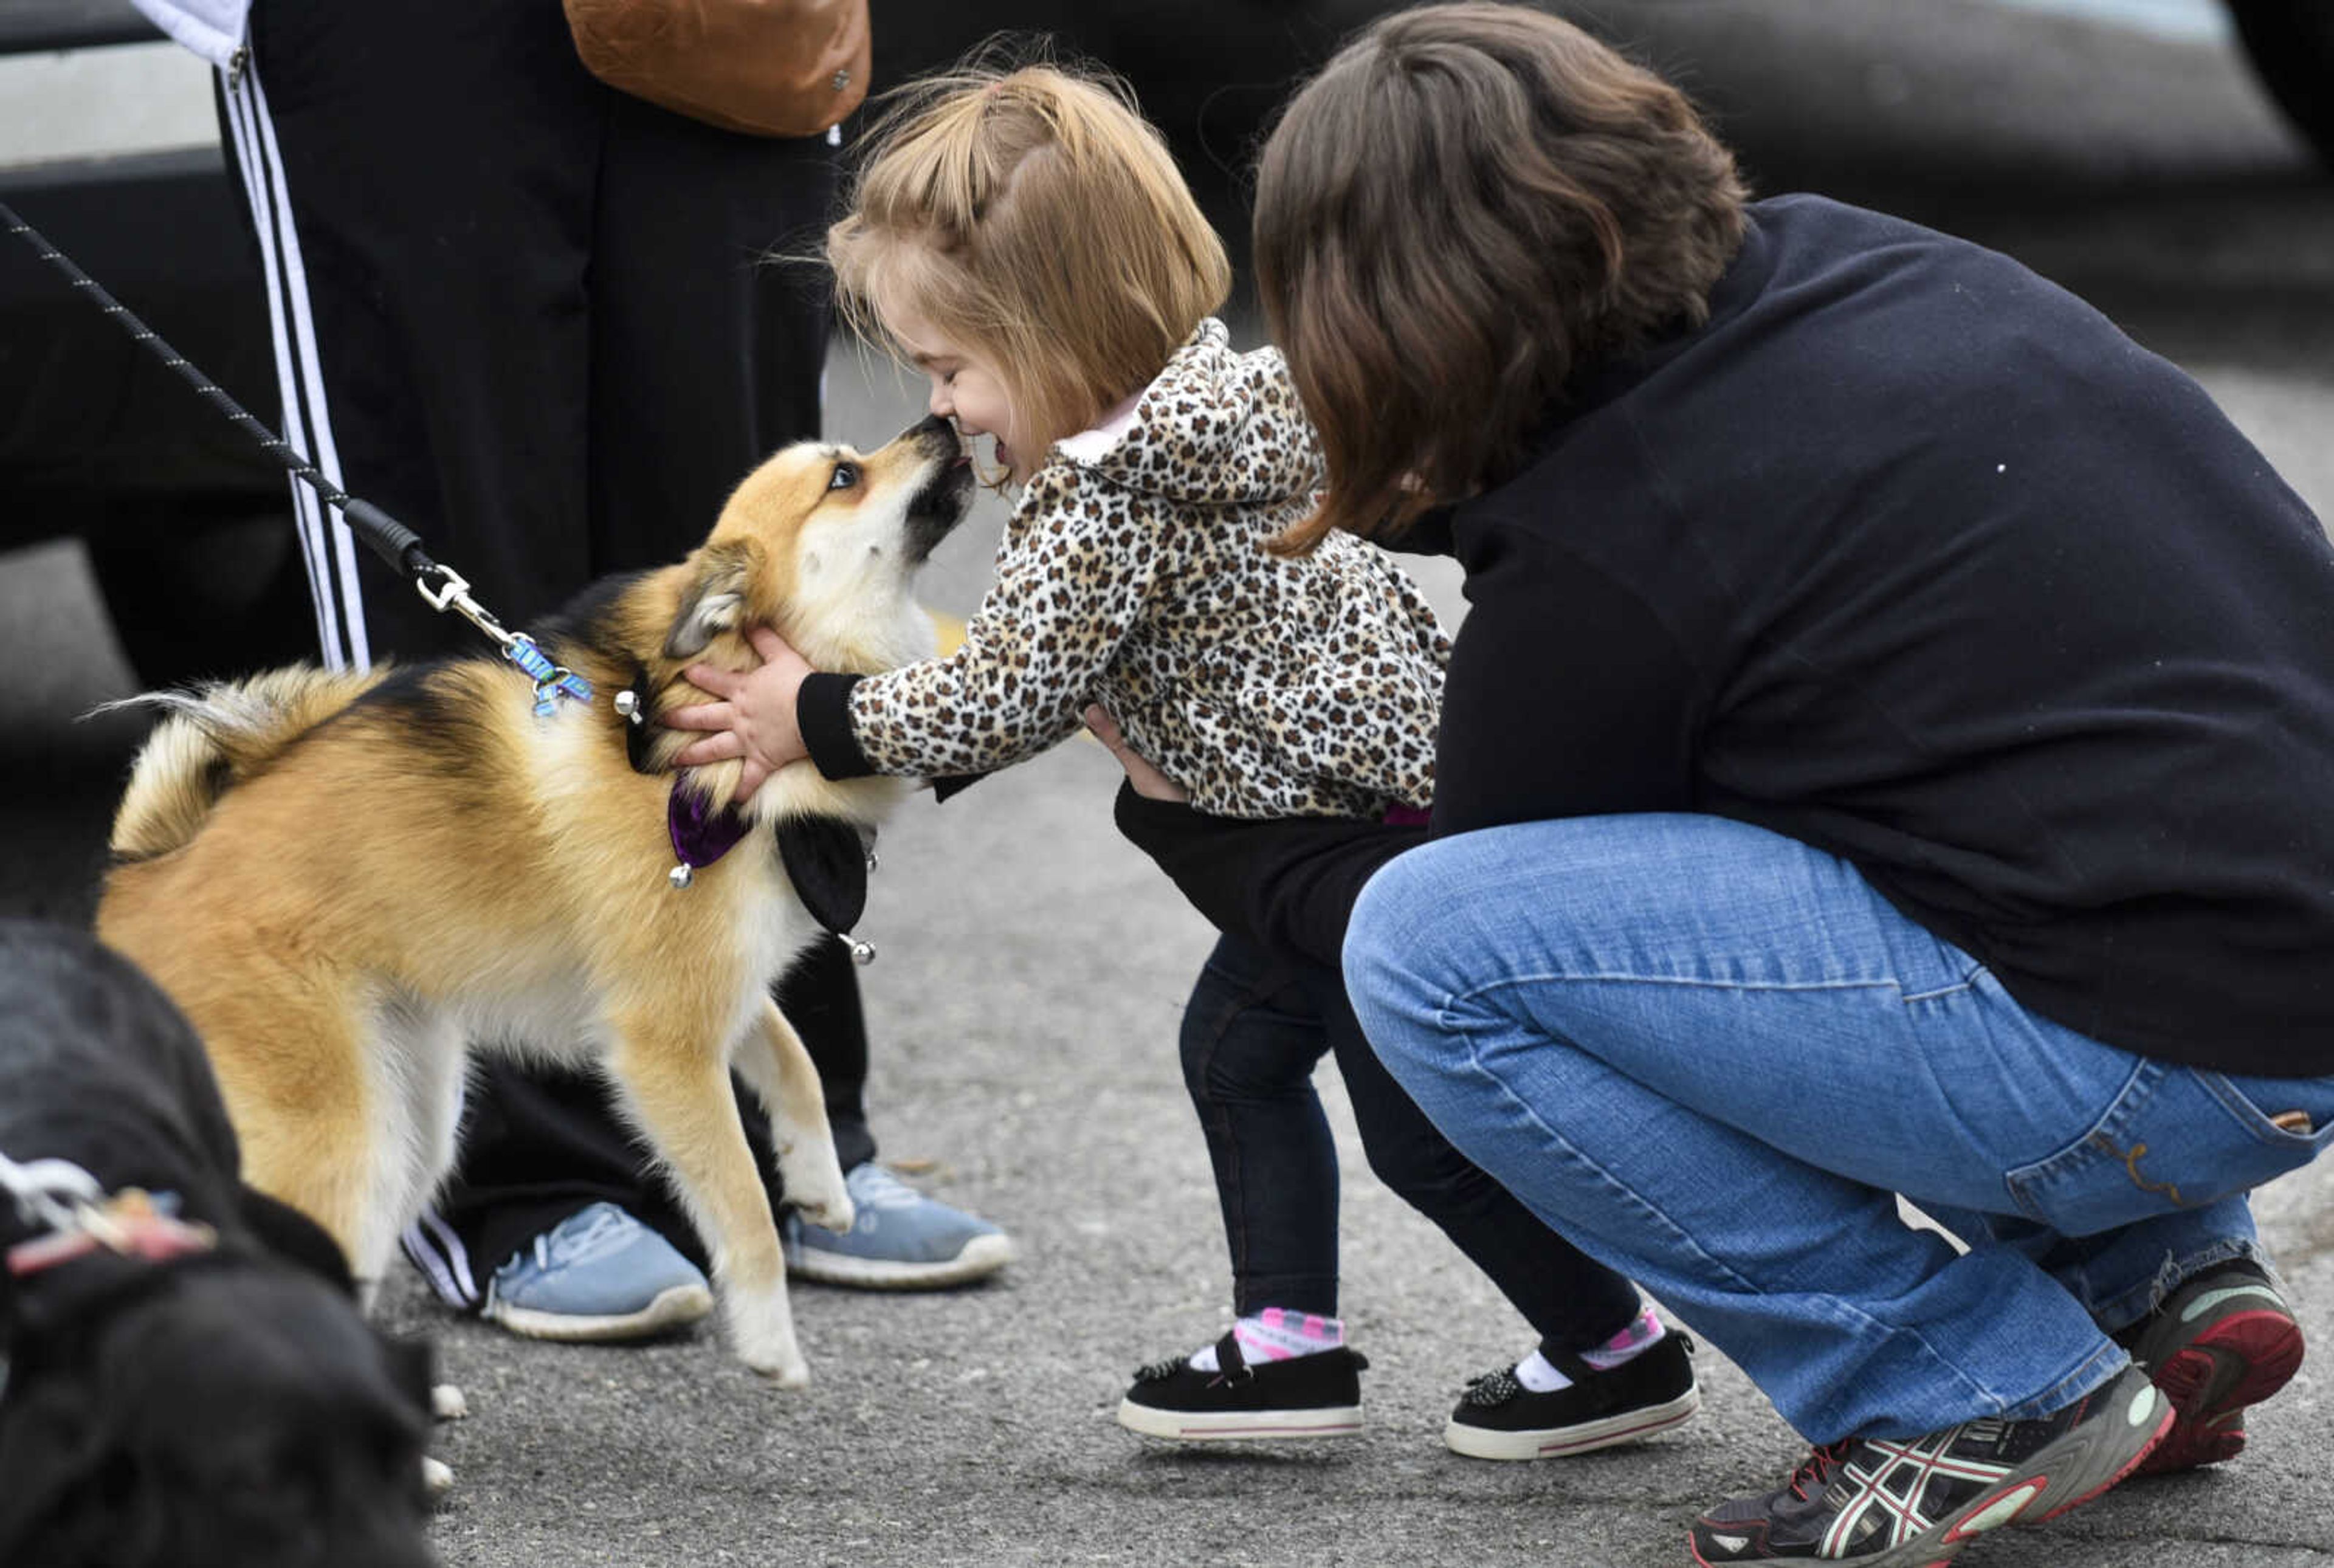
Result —
[[[0, 922], [0, 1153], [175, 1192], [210, 1253], [0, 1267], [0, 1563], [427, 1568], [429, 1351], [238, 1181], [177, 1008], [84, 933]], [[40, 1234], [0, 1195], [0, 1248]]]

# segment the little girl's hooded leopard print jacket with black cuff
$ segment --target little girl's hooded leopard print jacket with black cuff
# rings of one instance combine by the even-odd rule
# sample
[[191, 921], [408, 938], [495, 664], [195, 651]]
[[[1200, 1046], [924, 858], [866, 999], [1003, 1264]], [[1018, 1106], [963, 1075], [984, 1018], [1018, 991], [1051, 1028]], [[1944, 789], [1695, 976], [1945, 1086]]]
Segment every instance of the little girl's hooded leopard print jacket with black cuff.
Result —
[[990, 772], [1102, 702], [1202, 812], [1428, 803], [1449, 637], [1372, 544], [1263, 548], [1312, 509], [1321, 455], [1279, 352], [1228, 343], [1202, 322], [1116, 441], [1046, 455], [955, 653], [852, 688], [878, 772]]

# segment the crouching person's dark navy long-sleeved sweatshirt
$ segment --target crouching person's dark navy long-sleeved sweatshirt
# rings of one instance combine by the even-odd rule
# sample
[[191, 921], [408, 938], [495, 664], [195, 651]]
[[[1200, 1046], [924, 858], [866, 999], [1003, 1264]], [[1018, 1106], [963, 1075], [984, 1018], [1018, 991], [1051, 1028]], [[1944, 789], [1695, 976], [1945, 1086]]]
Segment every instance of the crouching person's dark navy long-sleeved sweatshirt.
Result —
[[[2017, 261], [1753, 205], [1711, 320], [1438, 516], [1466, 567], [1433, 833], [1711, 812], [1849, 859], [2126, 1050], [2334, 1071], [2334, 548], [2182, 371]], [[1335, 959], [1414, 842], [1120, 826]]]

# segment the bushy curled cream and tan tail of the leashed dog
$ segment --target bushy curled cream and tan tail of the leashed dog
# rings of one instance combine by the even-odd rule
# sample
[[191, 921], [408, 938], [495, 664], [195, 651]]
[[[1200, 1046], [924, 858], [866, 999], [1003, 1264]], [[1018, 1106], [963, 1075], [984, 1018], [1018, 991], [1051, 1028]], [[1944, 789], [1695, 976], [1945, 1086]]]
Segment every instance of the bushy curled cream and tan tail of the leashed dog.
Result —
[[294, 740], [378, 686], [385, 674], [380, 667], [331, 674], [292, 665], [243, 681], [147, 691], [96, 709], [163, 709], [131, 765], [131, 786], [114, 812], [114, 859], [145, 861], [191, 840], [219, 796], [264, 772]]

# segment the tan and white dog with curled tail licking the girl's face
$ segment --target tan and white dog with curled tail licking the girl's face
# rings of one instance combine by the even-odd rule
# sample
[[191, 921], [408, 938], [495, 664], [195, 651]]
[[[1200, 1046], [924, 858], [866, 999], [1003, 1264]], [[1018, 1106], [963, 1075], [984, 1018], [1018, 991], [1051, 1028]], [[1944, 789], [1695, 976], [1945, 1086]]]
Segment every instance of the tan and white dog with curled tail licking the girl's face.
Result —
[[[969, 488], [938, 420], [871, 455], [787, 448], [689, 560], [598, 583], [539, 637], [598, 691], [548, 719], [490, 653], [159, 698], [98, 931], [194, 1020], [250, 1181], [315, 1216], [362, 1283], [453, 1162], [467, 1043], [593, 1059], [677, 1178], [738, 1356], [805, 1379], [728, 1073], [770, 1108], [789, 1202], [850, 1225], [817, 1069], [768, 996], [822, 931], [768, 831], [668, 884], [665, 768], [691, 737], [656, 716], [705, 700], [686, 665], [752, 667], [752, 623], [822, 670], [929, 656], [910, 581]], [[721, 763], [686, 786], [726, 805], [735, 782]], [[873, 824], [899, 789], [798, 763], [745, 814]]]

